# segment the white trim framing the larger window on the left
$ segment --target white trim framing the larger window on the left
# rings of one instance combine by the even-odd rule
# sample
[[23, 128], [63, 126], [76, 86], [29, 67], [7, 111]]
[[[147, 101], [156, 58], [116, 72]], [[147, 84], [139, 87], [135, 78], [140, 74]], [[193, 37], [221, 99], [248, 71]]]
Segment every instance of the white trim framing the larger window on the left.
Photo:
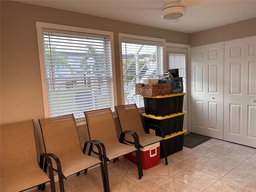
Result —
[[[113, 86], [114, 86], [113, 87], [113, 89], [114, 89], [114, 105], [116, 106], [117, 105], [117, 92], [116, 92], [116, 68], [115, 68], [115, 56], [114, 56], [114, 32], [74, 27], [74, 26], [66, 26], [66, 25], [60, 25], [60, 24], [51, 24], [51, 23], [45, 23], [45, 22], [36, 22], [42, 92], [43, 92], [43, 100], [44, 100], [44, 117], [49, 118], [49, 110], [48, 110], [48, 96], [47, 96], [47, 91], [46, 91], [47, 90], [46, 77], [45, 77], [45, 69], [44, 69], [42, 28], [50, 28], [50, 29], [56, 29], [56, 30], [66, 30], [66, 31], [75, 31], [75, 32], [83, 32], [83, 33], [100, 34], [100, 35], [110, 36], [111, 57], [112, 57], [112, 74], [113, 74]], [[85, 120], [77, 121], [77, 126], [84, 125], [84, 124], [86, 124]]]

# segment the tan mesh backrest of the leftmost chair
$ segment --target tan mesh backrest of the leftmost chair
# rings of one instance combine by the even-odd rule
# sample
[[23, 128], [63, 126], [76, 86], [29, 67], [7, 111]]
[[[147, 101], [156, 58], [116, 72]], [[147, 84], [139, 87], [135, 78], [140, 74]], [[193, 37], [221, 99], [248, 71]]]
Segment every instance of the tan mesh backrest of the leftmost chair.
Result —
[[38, 168], [38, 156], [33, 121], [0, 126], [1, 177]]

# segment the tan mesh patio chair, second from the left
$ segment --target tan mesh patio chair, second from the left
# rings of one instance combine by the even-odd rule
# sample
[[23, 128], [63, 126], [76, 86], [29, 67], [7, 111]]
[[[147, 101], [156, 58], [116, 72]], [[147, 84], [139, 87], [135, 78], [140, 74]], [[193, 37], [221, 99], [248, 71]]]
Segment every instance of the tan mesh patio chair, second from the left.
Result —
[[[60, 192], [64, 192], [63, 179], [74, 174], [80, 174], [85, 170], [100, 165], [104, 192], [109, 192], [108, 174], [104, 172], [102, 156], [99, 158], [85, 154], [86, 146], [95, 145], [98, 150], [100, 146], [96, 142], [85, 142], [82, 151], [76, 121], [73, 114], [53, 118], [39, 119], [44, 148], [46, 153], [54, 158], [53, 170], [58, 172]], [[55, 163], [54, 163], [55, 162]]]

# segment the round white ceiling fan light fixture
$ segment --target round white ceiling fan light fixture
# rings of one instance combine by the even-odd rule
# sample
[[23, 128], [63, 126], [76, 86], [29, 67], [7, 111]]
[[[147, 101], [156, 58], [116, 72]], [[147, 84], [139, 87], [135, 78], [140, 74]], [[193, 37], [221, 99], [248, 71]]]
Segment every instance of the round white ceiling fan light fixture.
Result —
[[173, 20], [184, 16], [186, 14], [186, 7], [179, 2], [178, 0], [164, 4], [161, 10], [161, 18]]

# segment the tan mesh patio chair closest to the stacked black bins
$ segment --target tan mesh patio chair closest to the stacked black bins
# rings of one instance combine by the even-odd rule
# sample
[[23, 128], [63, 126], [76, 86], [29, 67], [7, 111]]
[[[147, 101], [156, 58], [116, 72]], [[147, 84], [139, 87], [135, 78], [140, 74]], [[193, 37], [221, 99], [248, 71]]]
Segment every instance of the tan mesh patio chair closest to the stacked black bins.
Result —
[[[121, 130], [122, 131], [130, 130], [130, 131], [136, 132], [139, 137], [140, 147], [142, 148], [147, 145], [160, 142], [161, 144], [160, 147], [162, 147], [164, 151], [165, 164], [168, 165], [166, 145], [164, 144], [165, 140], [164, 140], [163, 130], [156, 125], [150, 125], [158, 128], [162, 134], [162, 137], [146, 134], [146, 132], [144, 131], [144, 127], [140, 118], [140, 113], [136, 104], [115, 106], [115, 108], [118, 115], [118, 120], [121, 126]], [[126, 142], [133, 143], [133, 139], [129, 135], [126, 135], [124, 137], [124, 140]]]

